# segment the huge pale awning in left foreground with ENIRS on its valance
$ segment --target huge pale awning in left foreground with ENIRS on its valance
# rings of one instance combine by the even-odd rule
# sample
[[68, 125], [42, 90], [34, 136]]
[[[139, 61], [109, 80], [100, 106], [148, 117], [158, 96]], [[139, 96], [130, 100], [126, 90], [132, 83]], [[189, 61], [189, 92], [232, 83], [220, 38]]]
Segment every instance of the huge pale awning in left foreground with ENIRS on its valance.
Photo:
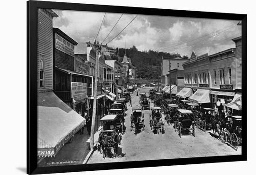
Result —
[[38, 93], [38, 156], [55, 156], [85, 119], [53, 92]]

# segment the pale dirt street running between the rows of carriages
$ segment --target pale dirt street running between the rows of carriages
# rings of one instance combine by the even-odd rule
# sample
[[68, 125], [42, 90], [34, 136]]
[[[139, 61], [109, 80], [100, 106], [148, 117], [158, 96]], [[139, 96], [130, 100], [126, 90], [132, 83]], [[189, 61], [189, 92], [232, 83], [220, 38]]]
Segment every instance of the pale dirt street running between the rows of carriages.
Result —
[[[146, 92], [148, 95], [149, 88], [140, 89], [138, 92]], [[173, 125], [168, 126], [165, 123], [164, 134], [154, 134], [149, 126], [150, 110], [144, 110], [145, 131], [135, 135], [130, 131], [131, 107], [127, 104], [128, 111], [125, 117], [126, 132], [122, 136], [121, 145], [119, 145], [117, 157], [106, 157], [103, 159], [99, 151], [94, 151], [88, 163], [102, 162], [124, 162], [124, 161], [141, 161], [156, 159], [172, 159], [186, 157], [202, 156], [224, 156], [241, 154], [241, 148], [237, 151], [229, 145], [223, 144], [220, 140], [210, 135], [209, 131], [204, 132], [196, 129], [195, 137], [192, 135], [182, 135], [180, 138], [175, 132]], [[132, 94], [132, 106], [139, 106], [139, 97], [136, 92]], [[150, 103], [153, 106], [153, 103]]]

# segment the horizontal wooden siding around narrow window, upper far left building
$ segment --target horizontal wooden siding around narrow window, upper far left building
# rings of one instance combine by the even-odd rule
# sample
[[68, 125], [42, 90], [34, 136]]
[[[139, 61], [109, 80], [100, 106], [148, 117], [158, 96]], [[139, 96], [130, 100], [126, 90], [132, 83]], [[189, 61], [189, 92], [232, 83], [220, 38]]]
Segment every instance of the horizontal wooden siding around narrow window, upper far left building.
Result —
[[[37, 92], [51, 91], [53, 89], [53, 20], [42, 9], [38, 9], [37, 29]], [[40, 55], [44, 56], [44, 87], [40, 87]]]

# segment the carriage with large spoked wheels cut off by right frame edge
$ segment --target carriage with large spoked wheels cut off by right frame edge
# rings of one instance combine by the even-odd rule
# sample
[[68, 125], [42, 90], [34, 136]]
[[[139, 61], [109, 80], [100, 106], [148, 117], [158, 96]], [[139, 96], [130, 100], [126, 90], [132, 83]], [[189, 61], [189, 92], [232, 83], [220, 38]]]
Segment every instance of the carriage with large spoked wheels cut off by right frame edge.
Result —
[[228, 115], [223, 126], [224, 143], [229, 143], [235, 150], [242, 145], [242, 116]]

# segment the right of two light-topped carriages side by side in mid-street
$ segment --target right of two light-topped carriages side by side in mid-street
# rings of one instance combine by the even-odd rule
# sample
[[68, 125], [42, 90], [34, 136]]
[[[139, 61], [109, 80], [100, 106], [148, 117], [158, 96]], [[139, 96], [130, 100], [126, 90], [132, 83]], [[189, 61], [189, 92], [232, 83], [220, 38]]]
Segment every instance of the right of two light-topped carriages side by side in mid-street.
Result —
[[151, 111], [152, 113], [149, 114], [151, 130], [153, 129], [153, 132], [157, 131], [157, 133], [159, 133], [160, 130], [161, 133], [164, 133], [164, 118], [162, 117], [161, 107], [151, 107]]

